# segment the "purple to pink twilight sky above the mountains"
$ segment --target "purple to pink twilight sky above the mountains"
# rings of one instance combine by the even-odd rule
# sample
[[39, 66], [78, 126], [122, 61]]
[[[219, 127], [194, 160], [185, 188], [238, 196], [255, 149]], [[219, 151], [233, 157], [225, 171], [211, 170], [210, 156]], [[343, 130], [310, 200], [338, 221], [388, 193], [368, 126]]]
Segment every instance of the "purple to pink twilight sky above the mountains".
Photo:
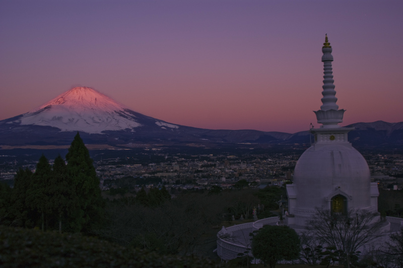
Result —
[[211, 129], [307, 130], [327, 33], [344, 122], [403, 121], [403, 1], [0, 1], [0, 120], [75, 86]]

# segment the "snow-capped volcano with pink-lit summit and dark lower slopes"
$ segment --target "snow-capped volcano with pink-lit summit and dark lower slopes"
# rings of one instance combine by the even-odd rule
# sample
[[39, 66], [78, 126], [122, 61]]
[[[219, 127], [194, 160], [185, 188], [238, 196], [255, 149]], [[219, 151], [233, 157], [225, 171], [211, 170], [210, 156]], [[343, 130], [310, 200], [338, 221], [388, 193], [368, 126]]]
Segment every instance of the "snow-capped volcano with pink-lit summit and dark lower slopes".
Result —
[[187, 136], [182, 128], [193, 129], [132, 111], [92, 88], [76, 87], [27, 113], [1, 120], [0, 144], [64, 145], [77, 131], [86, 142], [97, 144], [169, 141]]

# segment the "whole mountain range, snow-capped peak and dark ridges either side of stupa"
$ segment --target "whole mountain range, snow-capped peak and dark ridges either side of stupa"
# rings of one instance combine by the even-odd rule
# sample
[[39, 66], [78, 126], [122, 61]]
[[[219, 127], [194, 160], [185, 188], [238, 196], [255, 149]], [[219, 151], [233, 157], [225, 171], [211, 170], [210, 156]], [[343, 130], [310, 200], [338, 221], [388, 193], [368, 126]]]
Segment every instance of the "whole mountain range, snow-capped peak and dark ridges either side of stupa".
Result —
[[[403, 145], [403, 122], [355, 123], [354, 146]], [[0, 121], [0, 146], [69, 145], [76, 132], [87, 144], [136, 143], [282, 143], [309, 144], [308, 131], [212, 130], [183, 126], [130, 110], [86, 87], [73, 88], [48, 103]]]

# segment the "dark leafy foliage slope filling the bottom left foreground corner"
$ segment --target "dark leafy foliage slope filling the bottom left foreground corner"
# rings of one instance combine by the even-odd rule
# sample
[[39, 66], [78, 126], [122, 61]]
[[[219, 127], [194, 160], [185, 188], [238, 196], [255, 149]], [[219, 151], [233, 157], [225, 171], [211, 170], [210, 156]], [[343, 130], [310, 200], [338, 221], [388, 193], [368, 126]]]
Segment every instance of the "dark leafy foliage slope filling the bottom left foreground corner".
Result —
[[0, 226], [1, 267], [221, 267], [209, 259], [159, 255], [80, 234]]

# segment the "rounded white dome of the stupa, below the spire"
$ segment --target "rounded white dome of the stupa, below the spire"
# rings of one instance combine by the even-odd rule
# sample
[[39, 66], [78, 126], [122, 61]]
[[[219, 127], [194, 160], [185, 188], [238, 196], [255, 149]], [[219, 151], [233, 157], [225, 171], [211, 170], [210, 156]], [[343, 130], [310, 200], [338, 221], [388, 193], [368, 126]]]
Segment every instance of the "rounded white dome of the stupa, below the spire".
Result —
[[314, 145], [302, 154], [294, 170], [298, 209], [328, 209], [331, 198], [338, 194], [347, 198], [349, 209], [370, 209], [368, 164], [349, 145]]

